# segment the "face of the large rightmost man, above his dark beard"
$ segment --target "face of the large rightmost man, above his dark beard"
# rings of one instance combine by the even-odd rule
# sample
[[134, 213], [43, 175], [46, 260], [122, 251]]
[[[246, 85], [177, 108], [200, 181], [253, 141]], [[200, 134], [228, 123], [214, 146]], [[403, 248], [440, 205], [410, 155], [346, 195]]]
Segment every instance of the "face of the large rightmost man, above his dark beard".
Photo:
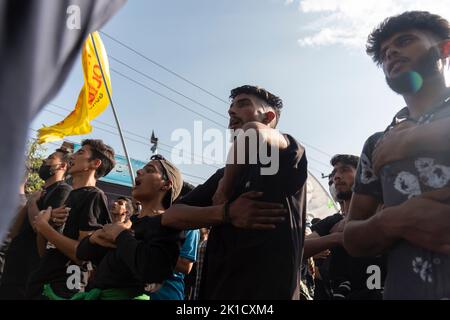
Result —
[[416, 29], [398, 32], [383, 41], [380, 59], [385, 76], [392, 79], [413, 70], [437, 42], [430, 33]]

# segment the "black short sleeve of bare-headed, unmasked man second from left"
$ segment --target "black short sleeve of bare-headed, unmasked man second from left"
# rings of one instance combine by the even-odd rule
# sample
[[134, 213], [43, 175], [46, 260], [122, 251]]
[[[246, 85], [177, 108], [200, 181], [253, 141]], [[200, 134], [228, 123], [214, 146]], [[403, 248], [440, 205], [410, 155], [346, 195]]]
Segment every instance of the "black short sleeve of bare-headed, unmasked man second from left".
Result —
[[89, 194], [80, 211], [79, 231], [94, 231], [111, 222], [106, 196], [101, 191]]

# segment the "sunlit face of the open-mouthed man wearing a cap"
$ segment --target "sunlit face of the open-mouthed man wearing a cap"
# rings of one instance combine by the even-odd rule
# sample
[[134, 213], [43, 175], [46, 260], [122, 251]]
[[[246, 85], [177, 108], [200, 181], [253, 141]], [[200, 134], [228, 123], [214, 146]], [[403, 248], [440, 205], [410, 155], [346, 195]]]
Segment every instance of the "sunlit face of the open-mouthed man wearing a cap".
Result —
[[161, 192], [166, 185], [164, 170], [157, 160], [152, 160], [137, 171], [135, 187], [132, 190], [133, 198], [145, 201]]

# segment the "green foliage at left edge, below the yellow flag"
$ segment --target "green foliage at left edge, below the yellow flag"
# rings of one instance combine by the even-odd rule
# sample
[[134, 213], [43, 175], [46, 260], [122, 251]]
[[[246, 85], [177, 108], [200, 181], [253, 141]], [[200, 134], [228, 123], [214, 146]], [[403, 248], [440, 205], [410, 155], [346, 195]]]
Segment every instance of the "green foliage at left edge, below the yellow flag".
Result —
[[40, 190], [44, 184], [44, 180], [39, 178], [38, 171], [42, 160], [46, 158], [44, 156], [45, 151], [46, 148], [38, 144], [37, 140], [32, 139], [28, 141], [26, 160], [27, 183], [25, 184], [25, 192], [27, 194]]

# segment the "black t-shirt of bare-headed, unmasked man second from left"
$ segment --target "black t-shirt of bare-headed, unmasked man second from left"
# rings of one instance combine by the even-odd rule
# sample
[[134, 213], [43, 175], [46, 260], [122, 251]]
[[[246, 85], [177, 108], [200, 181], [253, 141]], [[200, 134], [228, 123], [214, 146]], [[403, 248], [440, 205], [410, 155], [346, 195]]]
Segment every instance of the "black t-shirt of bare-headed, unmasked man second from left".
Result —
[[[80, 231], [94, 231], [104, 224], [110, 223], [107, 203], [103, 191], [96, 187], [83, 187], [70, 192], [65, 205], [71, 210], [64, 226], [63, 235], [78, 240]], [[70, 297], [77, 292], [77, 289], [70, 290], [66, 285], [67, 279], [71, 275], [71, 273], [67, 273], [70, 265], [75, 265], [75, 262], [58, 249], [47, 249], [37, 270], [30, 277], [27, 296], [29, 298], [39, 297], [44, 284], [50, 284], [52, 289], [62, 297]], [[85, 285], [84, 279], [81, 280], [81, 285]]]

